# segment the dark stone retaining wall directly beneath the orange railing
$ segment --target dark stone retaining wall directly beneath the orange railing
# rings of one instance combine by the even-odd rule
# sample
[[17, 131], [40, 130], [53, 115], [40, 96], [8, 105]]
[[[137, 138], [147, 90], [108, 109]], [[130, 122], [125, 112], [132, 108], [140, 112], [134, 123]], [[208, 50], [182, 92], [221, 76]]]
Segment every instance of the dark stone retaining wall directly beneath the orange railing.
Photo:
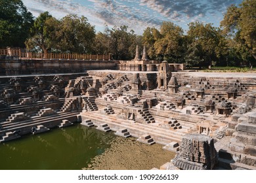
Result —
[[116, 69], [113, 60], [42, 60], [0, 58], [0, 75], [30, 75], [45, 73], [83, 73], [86, 70]]

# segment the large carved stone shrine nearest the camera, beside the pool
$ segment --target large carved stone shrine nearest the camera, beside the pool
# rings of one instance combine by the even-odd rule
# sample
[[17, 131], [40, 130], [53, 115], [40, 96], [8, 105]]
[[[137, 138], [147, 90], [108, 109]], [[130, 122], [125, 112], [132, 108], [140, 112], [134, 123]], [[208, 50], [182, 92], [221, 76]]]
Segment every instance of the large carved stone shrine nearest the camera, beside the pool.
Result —
[[183, 170], [211, 170], [217, 164], [217, 152], [211, 137], [202, 134], [186, 134], [182, 138], [180, 152], [171, 160]]

